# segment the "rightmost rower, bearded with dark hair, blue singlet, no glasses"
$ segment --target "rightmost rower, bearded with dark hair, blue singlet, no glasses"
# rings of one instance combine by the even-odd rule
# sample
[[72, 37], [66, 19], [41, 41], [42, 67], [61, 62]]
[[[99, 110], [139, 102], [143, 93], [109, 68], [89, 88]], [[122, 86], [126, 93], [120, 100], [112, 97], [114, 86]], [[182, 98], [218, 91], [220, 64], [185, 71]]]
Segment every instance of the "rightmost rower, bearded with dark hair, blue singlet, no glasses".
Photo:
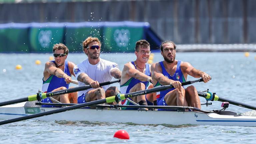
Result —
[[[191, 106], [201, 109], [200, 99], [194, 86], [184, 89], [181, 82], [190, 75], [203, 78], [208, 82], [211, 76], [201, 70], [195, 69], [190, 63], [175, 60], [176, 45], [172, 41], [162, 42], [161, 55], [164, 61], [151, 66], [154, 86], [173, 85], [174, 88], [157, 92], [157, 105], [159, 106]], [[161, 110], [161, 109], [158, 109]]]

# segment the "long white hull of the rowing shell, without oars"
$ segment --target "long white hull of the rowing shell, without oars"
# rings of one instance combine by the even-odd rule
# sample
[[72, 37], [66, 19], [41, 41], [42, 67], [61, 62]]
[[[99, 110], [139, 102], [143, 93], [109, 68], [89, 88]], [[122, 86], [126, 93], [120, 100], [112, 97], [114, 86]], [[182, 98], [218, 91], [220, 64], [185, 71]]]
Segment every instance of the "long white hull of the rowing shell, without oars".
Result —
[[[21, 116], [41, 113], [58, 108], [45, 108], [23, 102], [0, 107], [0, 119], [13, 119]], [[176, 108], [184, 108], [178, 107]], [[118, 122], [136, 124], [170, 125], [221, 125], [221, 126], [256, 126], [255, 116], [223, 115], [194, 111], [153, 111], [153, 110], [118, 110], [118, 109], [75, 109], [35, 118], [43, 121], [90, 121]]]

